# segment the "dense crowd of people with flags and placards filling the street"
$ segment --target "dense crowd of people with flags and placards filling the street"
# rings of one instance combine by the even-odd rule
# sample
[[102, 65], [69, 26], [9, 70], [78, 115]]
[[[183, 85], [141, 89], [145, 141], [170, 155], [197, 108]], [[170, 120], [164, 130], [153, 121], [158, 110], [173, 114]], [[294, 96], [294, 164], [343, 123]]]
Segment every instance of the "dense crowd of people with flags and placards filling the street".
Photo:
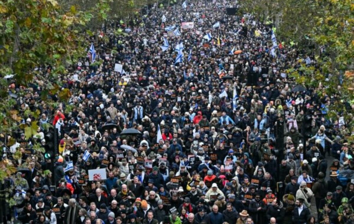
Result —
[[[38, 129], [18, 133], [4, 154], [18, 168], [7, 179], [15, 201], [7, 216], [31, 224], [353, 223], [351, 127], [343, 111], [326, 118], [340, 89], [296, 89], [285, 70], [300, 59], [315, 65], [311, 55], [274, 48], [272, 26], [226, 7], [237, 6], [188, 1], [107, 24], [94, 43], [101, 65], [90, 65], [90, 54], [58, 77], [72, 93], [67, 103], [53, 108], [40, 97], [44, 83], [30, 85], [17, 106], [40, 111], [23, 121]], [[58, 152], [47, 123], [58, 129]], [[46, 151], [33, 150], [37, 143]], [[90, 177], [102, 168], [107, 178]]]

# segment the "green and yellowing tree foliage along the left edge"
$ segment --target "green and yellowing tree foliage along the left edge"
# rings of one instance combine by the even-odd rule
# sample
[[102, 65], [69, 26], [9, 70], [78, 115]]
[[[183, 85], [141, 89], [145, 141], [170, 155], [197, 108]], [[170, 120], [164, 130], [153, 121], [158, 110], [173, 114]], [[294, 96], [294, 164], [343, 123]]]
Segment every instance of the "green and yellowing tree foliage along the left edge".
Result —
[[[90, 43], [83, 32], [85, 26], [92, 18], [103, 21], [109, 2], [97, 0], [92, 8], [79, 11], [74, 5], [64, 9], [56, 0], [0, 1], [1, 77], [13, 74], [12, 80], [17, 85], [41, 86], [45, 101], [48, 96], [62, 101], [68, 99], [70, 91], [60, 89], [62, 81], [58, 77], [67, 72], [67, 66], [86, 55]], [[0, 134], [2, 144], [7, 146], [15, 143], [11, 135], [18, 128], [28, 136], [35, 133], [36, 122], [31, 125], [19, 125], [19, 122], [23, 117], [38, 117], [40, 113], [18, 107], [17, 97], [26, 93], [13, 88], [7, 91], [10, 83], [0, 79]], [[0, 168], [0, 181], [16, 171], [11, 161], [6, 160], [0, 162]]]

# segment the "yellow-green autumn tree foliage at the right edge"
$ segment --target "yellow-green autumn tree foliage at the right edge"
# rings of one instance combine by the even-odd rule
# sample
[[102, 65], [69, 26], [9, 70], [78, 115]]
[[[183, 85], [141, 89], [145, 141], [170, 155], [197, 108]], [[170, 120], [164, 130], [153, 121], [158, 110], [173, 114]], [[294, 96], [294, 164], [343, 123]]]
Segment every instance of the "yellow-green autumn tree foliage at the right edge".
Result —
[[[299, 84], [314, 87], [318, 95], [327, 101], [334, 93], [339, 99], [326, 105], [327, 117], [338, 120], [343, 114], [347, 125], [353, 127], [354, 109], [354, 5], [350, 0], [306, 1], [240, 1], [241, 11], [257, 12], [263, 22], [273, 21], [276, 35], [285, 45], [295, 42], [313, 63], [306, 65], [303, 59], [288, 69], [290, 77]], [[255, 7], [252, 7], [255, 5]], [[276, 18], [280, 23], [276, 23]], [[270, 41], [270, 40], [269, 40]], [[353, 137], [349, 138], [354, 141]]]

